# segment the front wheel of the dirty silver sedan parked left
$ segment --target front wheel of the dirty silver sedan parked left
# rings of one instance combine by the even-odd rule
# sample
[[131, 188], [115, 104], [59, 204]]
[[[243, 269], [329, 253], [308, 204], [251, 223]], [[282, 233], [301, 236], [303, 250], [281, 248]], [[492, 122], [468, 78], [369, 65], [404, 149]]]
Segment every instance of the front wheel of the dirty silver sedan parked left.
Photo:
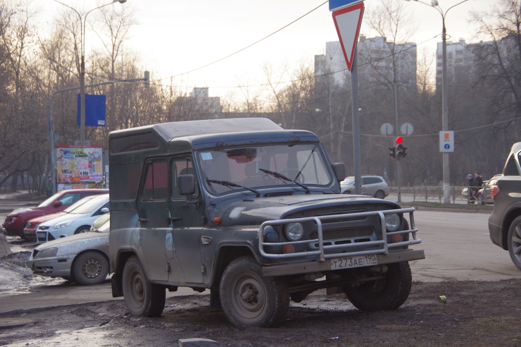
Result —
[[72, 264], [71, 276], [81, 285], [91, 286], [102, 283], [108, 274], [108, 261], [103, 254], [86, 252], [80, 254]]

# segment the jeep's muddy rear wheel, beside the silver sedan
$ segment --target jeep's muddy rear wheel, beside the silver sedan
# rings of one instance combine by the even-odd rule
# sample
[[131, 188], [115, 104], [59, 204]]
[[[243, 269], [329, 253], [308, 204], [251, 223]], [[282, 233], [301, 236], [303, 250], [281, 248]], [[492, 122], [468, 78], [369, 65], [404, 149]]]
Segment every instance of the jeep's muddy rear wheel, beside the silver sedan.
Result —
[[135, 256], [131, 256], [123, 268], [123, 297], [134, 316], [157, 317], [165, 309], [165, 287], [146, 278], [143, 266]]

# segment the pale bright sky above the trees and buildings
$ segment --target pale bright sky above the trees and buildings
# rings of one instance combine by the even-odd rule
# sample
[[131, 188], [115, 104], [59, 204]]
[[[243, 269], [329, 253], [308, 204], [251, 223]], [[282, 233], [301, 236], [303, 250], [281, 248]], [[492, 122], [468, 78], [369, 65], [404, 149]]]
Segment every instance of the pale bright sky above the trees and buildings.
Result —
[[[439, 4], [446, 10], [460, 1], [439, 0]], [[107, 0], [61, 2], [80, 10], [91, 9]], [[178, 75], [225, 57], [282, 28], [322, 2], [324, 0], [128, 0], [125, 4], [110, 6], [134, 8], [139, 23], [130, 31], [125, 49], [138, 53], [143, 67], [151, 71], [151, 78], [158, 79]], [[379, 0], [366, 0], [364, 3], [367, 11], [378, 6]], [[469, 0], [451, 9], [446, 16], [448, 34], [454, 40], [464, 38], [467, 42], [476, 41], [473, 39], [475, 27], [468, 23], [469, 12], [485, 11], [493, 3], [493, 0]], [[52, 30], [52, 17], [63, 6], [53, 0], [39, 0], [38, 4], [41, 6], [37, 18], [39, 24]], [[419, 43], [441, 32], [438, 11], [415, 1], [406, 2], [406, 7], [420, 22], [410, 41]], [[94, 18], [92, 12], [89, 20]], [[375, 36], [364, 23], [361, 34]], [[338, 36], [328, 4], [325, 4], [263, 42], [215, 65], [176, 78], [173, 84], [188, 85], [189, 89], [192, 86], [208, 86], [210, 96], [226, 96], [234, 89], [222, 87], [265, 83], [262, 72], [265, 63], [280, 67], [287, 62], [290, 69], [296, 68], [302, 61], [313, 64], [314, 55], [324, 54], [328, 41], [338, 41]], [[438, 41], [441, 37], [418, 46], [418, 53], [424, 47], [434, 52]], [[88, 25], [87, 51], [89, 47], [99, 44], [100, 38]], [[164, 80], [157, 83], [170, 82]]]

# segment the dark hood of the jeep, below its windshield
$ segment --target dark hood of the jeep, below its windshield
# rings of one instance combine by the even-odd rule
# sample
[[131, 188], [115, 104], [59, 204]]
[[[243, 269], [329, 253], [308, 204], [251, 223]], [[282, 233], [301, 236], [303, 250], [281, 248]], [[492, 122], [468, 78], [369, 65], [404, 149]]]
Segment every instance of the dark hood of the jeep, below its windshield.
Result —
[[[251, 201], [252, 200], [252, 201]], [[352, 210], [358, 206], [370, 206], [372, 210], [399, 209], [398, 203], [363, 195], [305, 194], [278, 197], [233, 200], [216, 204], [210, 215], [220, 217], [219, 226], [259, 225], [265, 221], [284, 219], [289, 215], [312, 210]], [[300, 216], [311, 216], [302, 213]]]

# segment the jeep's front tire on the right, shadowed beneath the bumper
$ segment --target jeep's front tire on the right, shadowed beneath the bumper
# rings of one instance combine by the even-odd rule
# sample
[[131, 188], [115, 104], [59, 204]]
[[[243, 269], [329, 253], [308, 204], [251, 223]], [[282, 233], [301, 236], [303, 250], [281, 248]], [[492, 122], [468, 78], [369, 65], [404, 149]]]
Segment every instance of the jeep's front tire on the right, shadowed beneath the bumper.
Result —
[[409, 263], [392, 263], [387, 266], [383, 279], [364, 282], [359, 287], [344, 287], [349, 301], [358, 310], [394, 310], [407, 300], [413, 282]]

